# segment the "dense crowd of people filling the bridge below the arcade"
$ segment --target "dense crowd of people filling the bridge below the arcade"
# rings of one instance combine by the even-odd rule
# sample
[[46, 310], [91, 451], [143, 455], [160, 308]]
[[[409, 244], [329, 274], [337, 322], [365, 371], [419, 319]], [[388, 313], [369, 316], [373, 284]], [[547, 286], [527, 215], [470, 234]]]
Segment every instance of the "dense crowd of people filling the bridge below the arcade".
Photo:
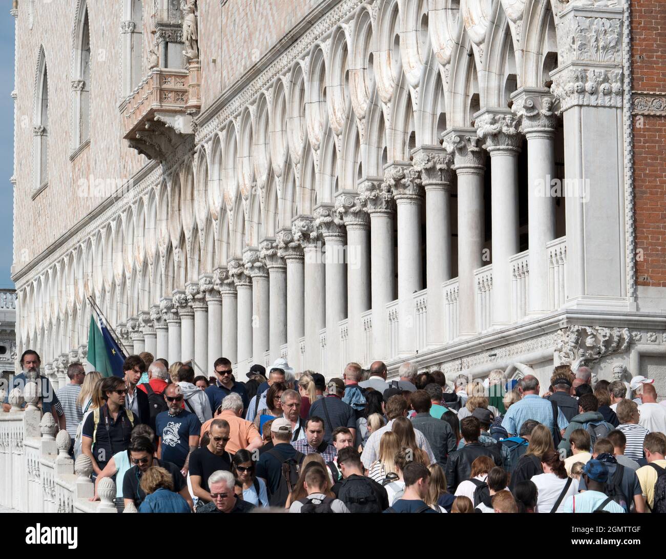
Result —
[[326, 380], [278, 359], [240, 382], [224, 357], [206, 378], [143, 352], [122, 377], [70, 364], [54, 392], [36, 352], [21, 368], [14, 386], [36, 382], [89, 458], [92, 500], [111, 477], [119, 511], [666, 512], [666, 400], [644, 376], [593, 385], [560, 365], [547, 390], [501, 370], [451, 386], [410, 362]]

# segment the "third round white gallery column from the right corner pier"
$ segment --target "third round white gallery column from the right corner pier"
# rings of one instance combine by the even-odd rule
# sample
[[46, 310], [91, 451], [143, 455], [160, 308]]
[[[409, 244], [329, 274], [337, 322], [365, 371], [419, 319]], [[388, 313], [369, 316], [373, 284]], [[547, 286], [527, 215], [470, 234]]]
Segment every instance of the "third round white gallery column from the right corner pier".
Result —
[[477, 330], [474, 271], [484, 265], [486, 157], [474, 128], [448, 129], [443, 137], [458, 175], [458, 333], [474, 336]]

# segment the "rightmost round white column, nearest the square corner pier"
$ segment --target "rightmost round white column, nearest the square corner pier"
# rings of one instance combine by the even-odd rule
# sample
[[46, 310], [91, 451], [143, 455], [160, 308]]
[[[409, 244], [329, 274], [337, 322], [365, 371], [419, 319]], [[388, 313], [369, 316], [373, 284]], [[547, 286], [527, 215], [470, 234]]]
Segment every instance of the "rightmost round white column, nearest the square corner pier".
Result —
[[[555, 98], [549, 90], [523, 87], [511, 95], [513, 111], [521, 118], [527, 138], [527, 310], [545, 312], [548, 298], [548, 251], [546, 243], [555, 239], [555, 198], [551, 185], [555, 175], [555, 128], [558, 117]], [[556, 193], [557, 194], [557, 193]], [[563, 196], [563, 193], [559, 194]]]

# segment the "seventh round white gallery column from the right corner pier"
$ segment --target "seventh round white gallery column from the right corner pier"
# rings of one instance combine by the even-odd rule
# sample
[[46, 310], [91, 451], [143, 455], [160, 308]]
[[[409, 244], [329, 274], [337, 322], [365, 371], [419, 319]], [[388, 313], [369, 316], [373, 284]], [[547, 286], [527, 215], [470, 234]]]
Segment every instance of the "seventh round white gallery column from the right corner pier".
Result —
[[357, 191], [338, 193], [335, 207], [347, 230], [347, 359], [362, 363], [361, 314], [370, 308], [370, 216], [363, 211]]

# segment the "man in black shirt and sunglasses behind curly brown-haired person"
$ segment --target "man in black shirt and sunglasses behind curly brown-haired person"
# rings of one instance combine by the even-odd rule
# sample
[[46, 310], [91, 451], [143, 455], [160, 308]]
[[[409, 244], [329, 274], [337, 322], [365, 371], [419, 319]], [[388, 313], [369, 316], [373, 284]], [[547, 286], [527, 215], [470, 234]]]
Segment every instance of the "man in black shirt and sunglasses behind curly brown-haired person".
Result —
[[171, 474], [174, 492], [180, 493], [182, 498], [187, 501], [190, 510], [192, 510], [194, 504], [192, 503], [190, 492], [187, 490], [187, 482], [180, 474], [178, 466], [165, 460], [159, 460], [159, 458], [153, 458], [153, 452], [155, 452], [155, 448], [148, 437], [137, 436], [132, 440], [129, 447], [129, 457], [133, 466], [125, 472], [125, 477], [123, 478], [123, 500], [125, 500], [125, 507], [133, 502], [137, 509], [139, 508], [139, 505], [146, 498], [146, 494], [140, 486], [141, 476], [151, 466], [159, 466], [160, 468], [165, 468]]

